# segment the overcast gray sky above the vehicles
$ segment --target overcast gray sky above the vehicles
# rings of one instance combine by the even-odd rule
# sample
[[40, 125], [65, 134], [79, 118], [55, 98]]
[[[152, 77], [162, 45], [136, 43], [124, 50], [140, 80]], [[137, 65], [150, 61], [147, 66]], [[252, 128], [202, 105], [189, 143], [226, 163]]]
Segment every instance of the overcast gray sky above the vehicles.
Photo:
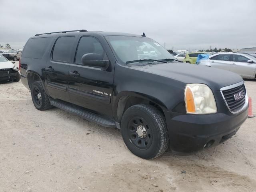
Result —
[[256, 0], [0, 0], [0, 44], [62, 30], [142, 34], [166, 48], [256, 47]]

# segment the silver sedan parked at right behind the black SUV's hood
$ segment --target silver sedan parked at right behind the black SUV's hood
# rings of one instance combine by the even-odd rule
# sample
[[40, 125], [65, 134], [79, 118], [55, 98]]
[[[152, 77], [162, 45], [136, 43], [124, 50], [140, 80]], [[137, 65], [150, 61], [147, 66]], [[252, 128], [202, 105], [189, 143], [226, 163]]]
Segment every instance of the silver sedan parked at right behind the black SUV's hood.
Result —
[[198, 65], [220, 68], [239, 74], [242, 78], [256, 78], [256, 58], [244, 53], [223, 53], [200, 60]]

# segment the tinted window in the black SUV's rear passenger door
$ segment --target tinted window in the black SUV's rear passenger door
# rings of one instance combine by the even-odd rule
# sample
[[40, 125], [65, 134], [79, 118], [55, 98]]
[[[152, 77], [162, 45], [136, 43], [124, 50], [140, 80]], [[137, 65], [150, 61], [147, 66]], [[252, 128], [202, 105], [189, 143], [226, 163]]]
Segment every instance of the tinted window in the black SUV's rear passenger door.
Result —
[[54, 45], [52, 59], [55, 61], [68, 62], [74, 40], [74, 37], [69, 36], [58, 38]]

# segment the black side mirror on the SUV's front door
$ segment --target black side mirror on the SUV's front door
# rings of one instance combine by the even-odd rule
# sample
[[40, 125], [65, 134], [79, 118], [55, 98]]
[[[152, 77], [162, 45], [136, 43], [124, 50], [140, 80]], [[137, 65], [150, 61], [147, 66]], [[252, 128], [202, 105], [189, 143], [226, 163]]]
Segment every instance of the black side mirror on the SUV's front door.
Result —
[[87, 53], [82, 56], [82, 64], [106, 70], [109, 66], [109, 60], [103, 60], [99, 54]]

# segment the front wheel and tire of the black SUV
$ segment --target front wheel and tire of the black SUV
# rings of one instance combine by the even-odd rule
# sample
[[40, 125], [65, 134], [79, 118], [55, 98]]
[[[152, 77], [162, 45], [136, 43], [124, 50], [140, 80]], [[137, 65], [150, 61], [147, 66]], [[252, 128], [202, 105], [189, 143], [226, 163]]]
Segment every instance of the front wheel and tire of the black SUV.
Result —
[[148, 104], [137, 104], [124, 112], [121, 132], [128, 149], [144, 159], [160, 156], [169, 146], [164, 114]]

